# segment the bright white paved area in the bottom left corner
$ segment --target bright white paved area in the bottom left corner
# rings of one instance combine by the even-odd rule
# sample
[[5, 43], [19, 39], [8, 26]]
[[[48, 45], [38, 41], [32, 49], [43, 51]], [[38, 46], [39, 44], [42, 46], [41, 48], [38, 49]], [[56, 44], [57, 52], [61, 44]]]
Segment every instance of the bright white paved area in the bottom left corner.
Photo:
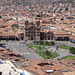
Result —
[[[0, 71], [3, 73], [2, 75], [10, 75], [9, 73], [11, 72], [11, 75], [20, 75], [23, 70], [16, 68], [13, 63], [11, 63], [9, 60], [3, 61], [3, 64], [0, 64]], [[32, 75], [26, 70], [24, 71], [26, 75]]]

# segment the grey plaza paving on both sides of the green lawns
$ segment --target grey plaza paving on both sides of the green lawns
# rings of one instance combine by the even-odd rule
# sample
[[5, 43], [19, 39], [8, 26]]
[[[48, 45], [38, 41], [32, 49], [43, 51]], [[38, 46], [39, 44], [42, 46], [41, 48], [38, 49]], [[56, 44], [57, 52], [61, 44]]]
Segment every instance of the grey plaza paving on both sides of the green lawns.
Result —
[[[24, 41], [20, 41], [20, 42], [3, 42], [5, 45], [3, 45], [6, 49], [9, 50], [13, 50], [16, 53], [21, 54], [25, 59], [43, 59], [41, 56], [39, 56], [34, 50], [32, 50], [31, 48], [29, 48], [28, 46], [26, 46], [26, 44], [24, 43]], [[28, 41], [27, 44], [32, 43], [32, 41]], [[59, 54], [58, 57], [54, 58], [54, 59], [61, 59], [62, 57], [68, 56], [68, 55], [72, 55], [75, 56], [71, 53], [69, 53], [69, 50], [66, 49], [59, 49], [58, 51], [55, 50], [56, 46], [60, 45], [60, 44], [65, 44], [71, 47], [75, 47], [75, 43], [71, 43], [69, 41], [56, 41], [56, 45], [55, 46], [45, 46], [45, 48], [47, 48], [49, 51], [51, 51], [54, 53]]]

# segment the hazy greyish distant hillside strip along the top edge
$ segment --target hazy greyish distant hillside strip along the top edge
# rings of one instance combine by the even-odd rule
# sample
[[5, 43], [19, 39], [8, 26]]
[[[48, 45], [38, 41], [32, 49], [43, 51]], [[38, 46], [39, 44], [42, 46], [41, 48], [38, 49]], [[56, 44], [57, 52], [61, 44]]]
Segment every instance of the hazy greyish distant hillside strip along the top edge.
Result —
[[56, 2], [75, 2], [75, 0], [0, 0], [0, 4], [30, 4], [30, 3], [56, 3]]

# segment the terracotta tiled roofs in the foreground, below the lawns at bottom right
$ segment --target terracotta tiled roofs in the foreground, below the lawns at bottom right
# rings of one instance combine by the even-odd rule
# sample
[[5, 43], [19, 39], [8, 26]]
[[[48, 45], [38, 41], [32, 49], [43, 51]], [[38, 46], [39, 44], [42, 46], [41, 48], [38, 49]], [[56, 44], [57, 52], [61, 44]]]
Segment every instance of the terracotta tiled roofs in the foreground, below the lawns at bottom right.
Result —
[[[50, 62], [50, 64], [48, 63]], [[36, 75], [49, 75], [46, 70], [54, 70], [51, 75], [68, 75], [75, 73], [75, 59], [66, 60], [30, 60], [28, 70], [34, 72]]]

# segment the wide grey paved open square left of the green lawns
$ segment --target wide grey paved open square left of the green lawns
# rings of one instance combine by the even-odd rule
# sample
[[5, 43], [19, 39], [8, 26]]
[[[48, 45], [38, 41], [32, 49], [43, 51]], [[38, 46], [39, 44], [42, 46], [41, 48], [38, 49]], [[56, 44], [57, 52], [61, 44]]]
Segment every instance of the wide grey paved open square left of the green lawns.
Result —
[[32, 50], [26, 44], [22, 42], [8, 42], [3, 45], [6, 49], [11, 50], [15, 53], [21, 54], [26, 60], [27, 59], [43, 59], [38, 55], [35, 50]]

